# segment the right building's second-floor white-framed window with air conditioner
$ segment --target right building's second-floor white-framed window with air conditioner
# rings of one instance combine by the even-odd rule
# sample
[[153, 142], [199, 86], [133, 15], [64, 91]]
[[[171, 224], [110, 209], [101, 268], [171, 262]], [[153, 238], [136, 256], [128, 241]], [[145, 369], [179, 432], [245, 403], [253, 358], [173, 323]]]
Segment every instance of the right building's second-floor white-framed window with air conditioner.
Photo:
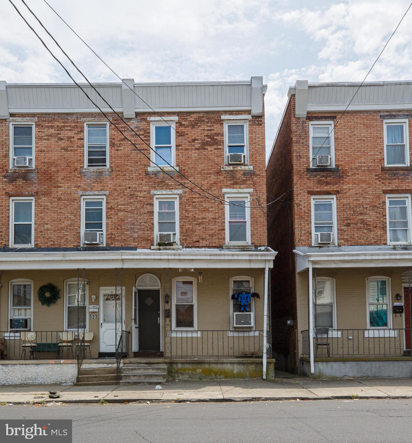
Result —
[[338, 245], [336, 195], [313, 195], [312, 245]]

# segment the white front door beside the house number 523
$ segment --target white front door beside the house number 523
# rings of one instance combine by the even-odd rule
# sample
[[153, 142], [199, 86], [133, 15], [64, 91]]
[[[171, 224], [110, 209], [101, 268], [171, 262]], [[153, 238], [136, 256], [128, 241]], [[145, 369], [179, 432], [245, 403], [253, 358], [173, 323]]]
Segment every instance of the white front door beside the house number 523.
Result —
[[[120, 299], [120, 292], [122, 299]], [[123, 309], [122, 309], [123, 307]], [[117, 342], [124, 325], [124, 288], [100, 288], [100, 352], [116, 352]], [[123, 315], [122, 315], [123, 311]], [[124, 326], [123, 326], [124, 329]]]

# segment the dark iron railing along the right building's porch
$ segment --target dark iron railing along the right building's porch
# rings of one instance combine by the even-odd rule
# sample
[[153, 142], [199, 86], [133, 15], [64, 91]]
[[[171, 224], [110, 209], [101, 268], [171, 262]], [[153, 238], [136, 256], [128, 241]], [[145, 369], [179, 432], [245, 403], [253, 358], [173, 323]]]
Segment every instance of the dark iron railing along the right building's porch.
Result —
[[[302, 355], [310, 354], [309, 330], [302, 330]], [[315, 358], [411, 355], [410, 329], [328, 329], [313, 331]]]

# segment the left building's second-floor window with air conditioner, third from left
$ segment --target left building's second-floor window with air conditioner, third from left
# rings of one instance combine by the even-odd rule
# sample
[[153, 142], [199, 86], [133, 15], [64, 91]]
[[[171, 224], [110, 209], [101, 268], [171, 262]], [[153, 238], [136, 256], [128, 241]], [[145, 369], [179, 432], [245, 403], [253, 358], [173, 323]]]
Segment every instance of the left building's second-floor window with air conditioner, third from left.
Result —
[[155, 195], [155, 245], [179, 245], [179, 197]]

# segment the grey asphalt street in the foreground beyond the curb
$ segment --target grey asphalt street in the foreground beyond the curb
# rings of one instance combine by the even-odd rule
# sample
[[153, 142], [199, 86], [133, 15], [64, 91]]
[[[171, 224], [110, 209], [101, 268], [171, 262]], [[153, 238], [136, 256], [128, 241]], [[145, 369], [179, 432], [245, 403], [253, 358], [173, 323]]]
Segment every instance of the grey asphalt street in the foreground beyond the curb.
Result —
[[0, 419], [72, 419], [74, 443], [410, 442], [412, 400], [0, 406]]

